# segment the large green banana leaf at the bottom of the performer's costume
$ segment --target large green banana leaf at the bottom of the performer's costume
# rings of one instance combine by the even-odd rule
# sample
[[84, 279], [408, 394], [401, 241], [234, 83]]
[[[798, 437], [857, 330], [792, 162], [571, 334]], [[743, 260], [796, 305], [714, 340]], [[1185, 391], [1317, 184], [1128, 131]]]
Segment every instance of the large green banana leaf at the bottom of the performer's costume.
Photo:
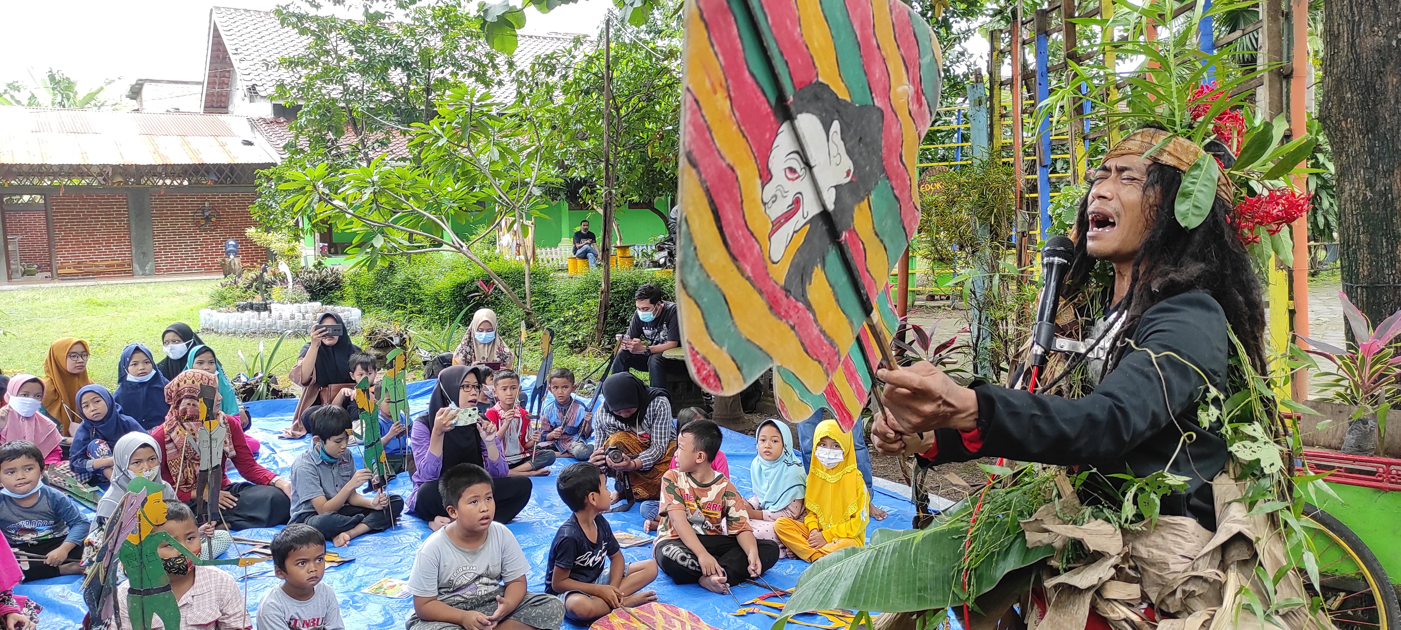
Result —
[[838, 550], [808, 567], [773, 627], [780, 630], [793, 615], [832, 608], [909, 612], [971, 602], [1007, 573], [1052, 553], [1049, 546], [1027, 549], [1027, 538], [1017, 529], [974, 567], [968, 575], [972, 592], [962, 596], [957, 568], [964, 554], [961, 528], [877, 529], [870, 545]]

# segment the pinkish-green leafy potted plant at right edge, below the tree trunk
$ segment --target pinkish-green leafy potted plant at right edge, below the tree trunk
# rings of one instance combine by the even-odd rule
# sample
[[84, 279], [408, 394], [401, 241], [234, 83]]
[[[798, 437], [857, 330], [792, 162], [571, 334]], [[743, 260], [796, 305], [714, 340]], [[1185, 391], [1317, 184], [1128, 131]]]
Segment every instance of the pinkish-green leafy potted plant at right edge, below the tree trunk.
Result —
[[[1348, 431], [1342, 441], [1342, 452], [1348, 455], [1376, 455], [1381, 440], [1386, 440], [1387, 412], [1401, 395], [1401, 349], [1391, 342], [1401, 335], [1401, 311], [1372, 328], [1367, 316], [1352, 305], [1348, 295], [1338, 291], [1342, 312], [1352, 329], [1351, 350], [1309, 339], [1309, 354], [1316, 354], [1332, 363], [1332, 370], [1320, 370], [1318, 389], [1324, 399], [1356, 406], [1348, 419]], [[1318, 363], [1309, 361], [1318, 370]]]

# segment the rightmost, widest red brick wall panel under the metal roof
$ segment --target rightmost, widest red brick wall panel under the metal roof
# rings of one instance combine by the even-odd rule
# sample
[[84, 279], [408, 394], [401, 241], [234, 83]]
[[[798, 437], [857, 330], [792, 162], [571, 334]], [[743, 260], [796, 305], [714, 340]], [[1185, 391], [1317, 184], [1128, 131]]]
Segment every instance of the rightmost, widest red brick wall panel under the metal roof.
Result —
[[[238, 258], [262, 262], [266, 251], [244, 231], [254, 227], [248, 206], [256, 193], [158, 195], [151, 193], [151, 223], [156, 225], [156, 273], [219, 273], [224, 241], [238, 241]], [[209, 203], [219, 225], [199, 228], [200, 207]]]

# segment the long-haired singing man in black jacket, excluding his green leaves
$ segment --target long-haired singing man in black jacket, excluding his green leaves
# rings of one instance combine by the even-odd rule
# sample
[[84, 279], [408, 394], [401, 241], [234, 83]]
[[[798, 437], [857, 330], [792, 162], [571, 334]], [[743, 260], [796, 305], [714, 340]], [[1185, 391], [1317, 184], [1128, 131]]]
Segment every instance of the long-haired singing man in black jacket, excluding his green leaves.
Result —
[[[1058, 510], [1062, 517], [1073, 512], [1066, 503], [1107, 504], [1111, 510], [1121, 505], [1126, 482], [1114, 475], [1128, 472], [1142, 479], [1166, 470], [1177, 480], [1174, 490], [1161, 497], [1154, 526], [1122, 532], [1124, 547], [1111, 543], [1100, 563], [1084, 560], [1089, 567], [1108, 563], [1101, 567], [1108, 573], [1101, 573], [1089, 589], [1082, 581], [1076, 595], [1062, 598], [1065, 592], [1056, 588], [1063, 584], [1052, 580], [1033, 589], [1030, 608], [1044, 613], [1037, 627], [1079, 629], [1086, 627], [1087, 617], [1091, 627], [1104, 627], [1104, 619], [1112, 627], [1152, 627], [1163, 617], [1195, 619], [1201, 624], [1223, 605], [1223, 592], [1236, 589], [1229, 580], [1223, 584], [1229, 571], [1220, 570], [1226, 566], [1220, 553], [1234, 559], [1231, 550], [1238, 547], [1222, 552], [1226, 542], [1215, 538], [1238, 533], [1244, 517], [1233, 515], [1227, 522], [1222, 515], [1227, 503], [1223, 490], [1213, 490], [1237, 486], [1229, 475], [1231, 456], [1222, 435], [1219, 400], [1213, 407], [1209, 396], [1217, 392], [1230, 398], [1233, 389], [1241, 388], [1245, 368], [1265, 372], [1265, 318], [1250, 253], [1237, 239], [1230, 216], [1233, 186], [1224, 171], [1234, 158], [1215, 140], [1206, 143], [1206, 151], [1224, 168], [1206, 218], [1192, 228], [1175, 218], [1174, 202], [1184, 172], [1203, 153], [1195, 143], [1145, 127], [1111, 147], [1094, 172], [1079, 206], [1075, 256], [1062, 291], [1068, 304], [1082, 311], [1077, 316], [1083, 319], [1072, 323], [1089, 330], [1089, 351], [1066, 361], [1065, 370], [1080, 370], [1073, 374], [1080, 375], [1082, 389], [1089, 393], [1072, 398], [1076, 388], [1068, 388], [1062, 398], [982, 382], [965, 388], [927, 363], [878, 374], [885, 382], [883, 402], [888, 412], [873, 424], [878, 449], [918, 454], [922, 466], [996, 456], [1068, 466], [1070, 475], [1083, 479], [1075, 489], [1061, 477], [1062, 500], [1023, 521], [1028, 547], [1063, 549], [1066, 538], [1045, 525], [1073, 525], [1056, 519]], [[1096, 267], [1100, 273], [1091, 274]], [[1107, 283], [1094, 281], [1107, 276], [1104, 267], [1112, 267], [1112, 276]], [[1096, 305], [1101, 312], [1083, 312]], [[1240, 346], [1231, 342], [1231, 333]], [[1019, 378], [1014, 375], [1013, 382]], [[1051, 381], [1059, 378], [1045, 379]], [[1222, 536], [1213, 536], [1219, 525]], [[1119, 540], [1121, 532], [1104, 526]], [[1164, 538], [1152, 539], [1156, 533]], [[1248, 531], [1244, 533], [1250, 542]], [[1168, 540], [1170, 535], [1177, 538]], [[1131, 536], [1143, 538], [1126, 545]], [[1094, 550], [1094, 543], [1082, 545]], [[1154, 566], [1140, 557], [1153, 546], [1182, 561]], [[1269, 553], [1259, 556], [1269, 566], [1271, 560], [1264, 559]], [[1254, 559], [1251, 553], [1245, 557]], [[1115, 567], [1126, 566], [1135, 567], [1133, 575], [1142, 573], [1142, 598], [1129, 598], [1135, 602], [1131, 605], [1124, 605], [1124, 598], [1107, 599], [1097, 589], [1107, 580], [1125, 580]], [[1181, 585], [1194, 578], [1195, 591], [1187, 594]], [[1292, 575], [1281, 589], [1295, 592], [1300, 584]], [[1264, 599], [1262, 591], [1255, 592]], [[1059, 610], [1058, 603], [1063, 605]], [[1233, 613], [1220, 615], [1217, 623]], [[1283, 616], [1292, 627], [1314, 623], [1303, 613]]]

